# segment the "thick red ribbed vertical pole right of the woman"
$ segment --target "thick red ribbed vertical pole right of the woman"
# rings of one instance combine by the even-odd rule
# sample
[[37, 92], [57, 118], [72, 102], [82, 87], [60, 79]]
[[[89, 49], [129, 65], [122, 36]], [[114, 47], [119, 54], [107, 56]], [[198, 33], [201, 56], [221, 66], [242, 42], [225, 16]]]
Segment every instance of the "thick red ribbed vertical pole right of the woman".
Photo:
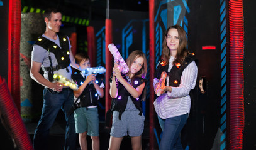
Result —
[[230, 135], [229, 149], [243, 149], [245, 123], [243, 98], [243, 1], [229, 1], [230, 33]]

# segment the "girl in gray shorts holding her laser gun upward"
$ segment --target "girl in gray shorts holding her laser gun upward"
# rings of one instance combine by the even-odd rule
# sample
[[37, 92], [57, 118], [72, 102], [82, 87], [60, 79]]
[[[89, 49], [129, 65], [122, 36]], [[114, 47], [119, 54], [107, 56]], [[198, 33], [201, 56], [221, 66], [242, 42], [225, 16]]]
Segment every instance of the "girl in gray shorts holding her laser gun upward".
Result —
[[[110, 79], [111, 113], [113, 124], [109, 149], [120, 149], [123, 136], [131, 137], [132, 149], [142, 149], [144, 116], [141, 101], [145, 99], [145, 76], [147, 60], [142, 51], [133, 51], [126, 60], [129, 71], [120, 73], [120, 67], [114, 64], [113, 76]], [[143, 94], [142, 94], [143, 93]]]

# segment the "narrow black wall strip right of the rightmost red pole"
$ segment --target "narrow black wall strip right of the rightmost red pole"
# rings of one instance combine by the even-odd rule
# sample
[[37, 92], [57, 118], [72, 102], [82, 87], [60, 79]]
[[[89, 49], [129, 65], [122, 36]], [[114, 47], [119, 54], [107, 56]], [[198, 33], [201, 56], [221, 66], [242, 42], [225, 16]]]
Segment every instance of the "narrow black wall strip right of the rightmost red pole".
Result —
[[245, 31], [245, 131], [243, 136], [243, 149], [256, 149], [256, 1], [243, 1], [244, 31]]

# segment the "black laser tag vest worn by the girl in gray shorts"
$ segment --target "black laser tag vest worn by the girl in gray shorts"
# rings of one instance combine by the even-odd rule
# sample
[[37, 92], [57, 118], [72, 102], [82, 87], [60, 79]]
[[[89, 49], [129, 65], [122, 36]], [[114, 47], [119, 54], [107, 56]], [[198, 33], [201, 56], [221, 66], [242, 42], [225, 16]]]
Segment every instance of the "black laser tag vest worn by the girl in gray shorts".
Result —
[[[126, 78], [124, 79], [128, 81]], [[144, 82], [146, 82], [146, 79], [136, 77], [135, 79], [133, 79], [131, 86], [133, 86], [134, 88], [137, 88], [138, 86], [140, 86], [140, 84]], [[131, 94], [125, 89], [123, 84], [118, 82], [118, 96], [112, 99], [110, 111], [111, 113], [113, 113], [113, 111], [118, 111], [119, 112], [118, 118], [120, 120], [121, 120], [121, 115], [125, 111], [129, 96], [133, 101], [133, 104], [135, 104], [135, 107], [140, 111], [139, 115], [142, 115], [142, 106], [141, 106], [142, 95], [139, 98], [133, 98], [133, 96], [131, 96]]]

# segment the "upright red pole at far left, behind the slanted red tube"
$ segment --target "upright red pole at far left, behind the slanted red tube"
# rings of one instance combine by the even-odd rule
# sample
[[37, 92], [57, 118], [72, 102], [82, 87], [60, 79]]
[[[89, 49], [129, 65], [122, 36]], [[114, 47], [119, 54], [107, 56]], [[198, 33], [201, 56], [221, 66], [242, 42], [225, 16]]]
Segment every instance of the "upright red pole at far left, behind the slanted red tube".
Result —
[[8, 87], [20, 112], [19, 48], [21, 34], [21, 1], [9, 1], [8, 21]]

